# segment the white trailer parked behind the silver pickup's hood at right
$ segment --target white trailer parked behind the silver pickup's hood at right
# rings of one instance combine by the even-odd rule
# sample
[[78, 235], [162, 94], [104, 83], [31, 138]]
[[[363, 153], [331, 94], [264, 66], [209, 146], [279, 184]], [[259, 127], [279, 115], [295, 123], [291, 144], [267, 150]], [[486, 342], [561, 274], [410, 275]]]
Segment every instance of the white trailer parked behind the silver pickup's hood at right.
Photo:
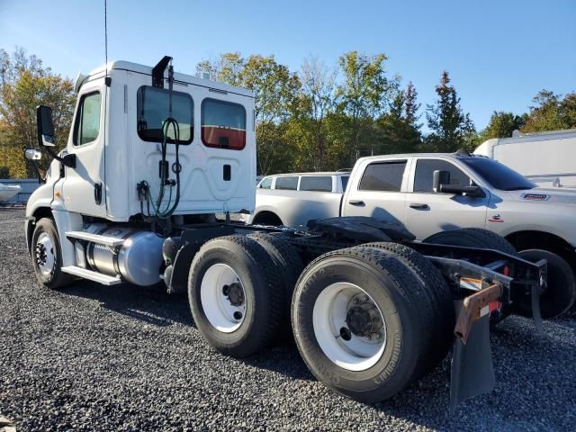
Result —
[[496, 159], [540, 186], [576, 187], [576, 129], [488, 139], [474, 154]]

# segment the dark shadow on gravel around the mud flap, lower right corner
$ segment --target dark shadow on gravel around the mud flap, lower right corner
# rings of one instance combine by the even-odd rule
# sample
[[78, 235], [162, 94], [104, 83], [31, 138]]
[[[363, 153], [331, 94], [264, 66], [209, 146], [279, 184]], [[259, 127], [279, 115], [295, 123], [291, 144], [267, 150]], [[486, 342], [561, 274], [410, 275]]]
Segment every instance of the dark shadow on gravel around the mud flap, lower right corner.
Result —
[[[452, 353], [432, 373], [374, 409], [440, 430], [568, 430], [576, 416], [576, 375], [571, 367], [576, 347], [554, 335], [558, 328], [573, 331], [573, 315], [545, 323], [548, 335], [544, 338], [523, 318], [506, 320], [492, 329], [496, 388], [464, 401], [453, 415], [448, 412]], [[549, 401], [555, 401], [554, 410]]]

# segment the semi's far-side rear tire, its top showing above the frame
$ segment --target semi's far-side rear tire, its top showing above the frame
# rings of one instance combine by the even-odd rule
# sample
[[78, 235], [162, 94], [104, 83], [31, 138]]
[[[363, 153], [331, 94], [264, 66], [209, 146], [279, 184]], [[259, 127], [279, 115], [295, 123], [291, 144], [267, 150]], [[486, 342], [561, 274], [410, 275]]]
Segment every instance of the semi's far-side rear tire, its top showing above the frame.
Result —
[[[518, 251], [506, 239], [495, 232], [482, 228], [462, 228], [440, 231], [424, 240], [425, 243], [437, 243], [439, 245], [483, 247], [494, 249], [505, 254], [519, 257]], [[501, 320], [509, 316], [514, 307], [502, 308], [501, 311], [491, 313], [490, 322], [492, 326], [497, 325]]]

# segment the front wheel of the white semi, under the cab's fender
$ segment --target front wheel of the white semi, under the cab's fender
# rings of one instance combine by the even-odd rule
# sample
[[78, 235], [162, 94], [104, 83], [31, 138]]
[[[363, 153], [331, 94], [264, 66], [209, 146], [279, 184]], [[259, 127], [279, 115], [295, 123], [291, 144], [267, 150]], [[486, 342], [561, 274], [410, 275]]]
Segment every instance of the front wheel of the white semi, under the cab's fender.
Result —
[[74, 282], [72, 275], [62, 272], [62, 247], [54, 220], [42, 218], [32, 233], [31, 258], [36, 278], [51, 290]]

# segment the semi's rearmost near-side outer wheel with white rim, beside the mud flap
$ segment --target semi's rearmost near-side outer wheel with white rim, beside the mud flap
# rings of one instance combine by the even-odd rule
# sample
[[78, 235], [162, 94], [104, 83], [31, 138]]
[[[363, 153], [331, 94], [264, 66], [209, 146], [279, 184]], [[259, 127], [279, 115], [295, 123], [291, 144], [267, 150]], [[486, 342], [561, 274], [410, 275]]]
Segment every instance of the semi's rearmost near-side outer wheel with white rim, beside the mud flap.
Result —
[[401, 392], [425, 369], [434, 317], [409, 267], [374, 247], [318, 257], [293, 295], [294, 339], [321, 382], [356, 401]]

